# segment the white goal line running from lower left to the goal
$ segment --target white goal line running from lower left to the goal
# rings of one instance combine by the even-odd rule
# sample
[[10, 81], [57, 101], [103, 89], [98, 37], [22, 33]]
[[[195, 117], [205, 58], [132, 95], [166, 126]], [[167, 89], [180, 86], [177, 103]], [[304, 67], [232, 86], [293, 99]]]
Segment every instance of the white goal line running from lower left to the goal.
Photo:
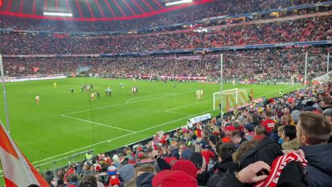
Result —
[[[212, 111], [212, 109], [210, 109], [210, 110], [208, 110], [208, 111], [205, 111], [205, 112], [200, 112], [200, 113], [198, 113], [198, 114], [192, 114], [192, 115], [190, 115], [190, 116], [196, 116], [196, 115], [203, 114], [203, 113], [210, 112], [210, 111]], [[76, 150], [71, 150], [71, 151], [69, 151], [69, 152], [64, 152], [64, 153], [62, 153], [62, 154], [58, 154], [58, 155], [55, 155], [55, 156], [53, 156], [53, 157], [48, 157], [48, 158], [46, 158], [46, 159], [42, 159], [42, 160], [40, 160], [40, 161], [35, 161], [35, 162], [33, 162], [33, 164], [35, 164], [35, 163], [39, 163], [39, 162], [42, 162], [42, 161], [47, 161], [47, 160], [49, 160], [49, 159], [54, 159], [54, 158], [57, 158], [57, 157], [59, 157], [59, 156], [66, 155], [66, 154], [69, 154], [69, 153], [72, 153], [72, 152], [77, 152], [78, 150], [84, 150], [84, 149], [87, 149], [87, 148], [91, 148], [92, 146], [100, 145], [100, 144], [102, 144], [102, 143], [107, 143], [107, 142], [109, 142], [109, 141], [114, 141], [114, 140], [116, 140], [116, 139], [121, 139], [121, 138], [123, 138], [123, 137], [131, 136], [131, 135], [133, 135], [133, 134], [137, 134], [137, 133], [140, 133], [140, 132], [145, 132], [145, 131], [147, 131], [147, 130], [154, 129], [154, 128], [156, 128], [156, 127], [160, 127], [160, 126], [167, 125], [167, 124], [169, 124], [169, 123], [174, 123], [174, 122], [176, 122], [176, 121], [184, 120], [184, 119], [186, 119], [186, 118], [188, 118], [188, 117], [189, 117], [189, 116], [186, 116], [186, 117], [183, 117], [183, 118], [178, 118], [178, 119], [176, 119], [176, 120], [174, 120], [174, 121], [169, 121], [169, 122], [166, 122], [166, 123], [161, 123], [161, 124], [159, 124], [159, 125], [155, 125], [155, 126], [153, 126], [153, 127], [148, 127], [148, 128], [143, 129], [143, 130], [139, 130], [139, 131], [137, 131], [137, 132], [131, 132], [131, 133], [129, 133], [129, 134], [124, 134], [124, 135], [122, 135], [122, 136], [118, 136], [118, 137], [113, 138], [113, 139], [109, 139], [109, 140], [106, 140], [106, 141], [100, 141], [100, 142], [98, 142], [98, 143], [94, 143], [94, 144], [92, 144], [92, 145], [87, 145], [87, 146], [84, 146], [84, 147], [82, 147], [82, 148], [78, 148], [78, 149], [76, 149]]]

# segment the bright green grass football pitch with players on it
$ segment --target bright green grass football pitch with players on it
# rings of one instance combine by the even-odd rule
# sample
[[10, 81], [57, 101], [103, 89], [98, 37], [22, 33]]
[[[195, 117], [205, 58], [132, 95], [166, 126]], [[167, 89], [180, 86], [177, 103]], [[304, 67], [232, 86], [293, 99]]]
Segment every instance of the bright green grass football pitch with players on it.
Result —
[[[53, 82], [57, 82], [56, 88]], [[93, 90], [100, 92], [100, 100], [91, 101], [89, 94], [81, 91], [83, 84], [93, 84]], [[176, 84], [176, 89], [172, 84]], [[135, 96], [131, 94], [133, 85], [139, 91]], [[34, 165], [89, 148], [95, 148], [95, 154], [107, 152], [151, 137], [157, 131], [185, 125], [188, 118], [216, 115], [218, 111], [212, 111], [212, 95], [220, 90], [219, 84], [100, 78], [12, 82], [6, 87], [12, 138]], [[105, 96], [107, 87], [113, 89], [110, 98]], [[234, 88], [253, 89], [255, 98], [270, 98], [280, 90], [286, 93], [296, 89], [266, 84], [223, 86], [224, 90]], [[196, 100], [196, 89], [204, 90], [204, 99]], [[37, 94], [39, 105], [35, 103]], [[5, 123], [2, 96], [0, 114]]]

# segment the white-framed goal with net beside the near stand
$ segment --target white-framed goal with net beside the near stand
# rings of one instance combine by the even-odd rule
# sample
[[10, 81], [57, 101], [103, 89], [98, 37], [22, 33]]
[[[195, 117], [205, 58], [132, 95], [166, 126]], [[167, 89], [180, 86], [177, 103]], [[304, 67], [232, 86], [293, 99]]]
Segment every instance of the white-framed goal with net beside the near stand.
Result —
[[228, 89], [213, 93], [213, 109], [221, 109], [228, 112], [234, 107], [239, 107], [250, 103], [252, 92], [249, 89]]

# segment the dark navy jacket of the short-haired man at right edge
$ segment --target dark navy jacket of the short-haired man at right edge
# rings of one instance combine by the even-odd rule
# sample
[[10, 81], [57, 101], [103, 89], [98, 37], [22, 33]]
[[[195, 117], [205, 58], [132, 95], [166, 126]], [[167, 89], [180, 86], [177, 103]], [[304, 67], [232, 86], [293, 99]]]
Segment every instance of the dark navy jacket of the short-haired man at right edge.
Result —
[[316, 186], [331, 186], [332, 144], [307, 145], [301, 147], [306, 155], [306, 173]]

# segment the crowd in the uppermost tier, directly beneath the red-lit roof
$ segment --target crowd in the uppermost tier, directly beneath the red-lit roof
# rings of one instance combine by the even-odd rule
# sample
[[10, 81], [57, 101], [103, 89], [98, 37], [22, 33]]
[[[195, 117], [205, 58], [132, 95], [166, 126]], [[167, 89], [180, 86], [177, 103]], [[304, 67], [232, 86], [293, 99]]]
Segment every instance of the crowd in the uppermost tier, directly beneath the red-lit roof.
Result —
[[216, 17], [220, 15], [238, 15], [241, 13], [257, 12], [274, 8], [287, 8], [308, 3], [317, 3], [328, 0], [215, 0], [209, 3], [189, 6], [180, 10], [172, 10], [163, 14], [141, 19], [131, 19], [122, 21], [50, 21], [39, 19], [22, 19], [18, 17], [0, 16], [0, 28], [15, 28], [19, 30], [53, 30], [53, 31], [118, 31], [131, 30], [142, 27], [152, 27], [160, 25], [172, 25], [196, 21], [206, 17]]

